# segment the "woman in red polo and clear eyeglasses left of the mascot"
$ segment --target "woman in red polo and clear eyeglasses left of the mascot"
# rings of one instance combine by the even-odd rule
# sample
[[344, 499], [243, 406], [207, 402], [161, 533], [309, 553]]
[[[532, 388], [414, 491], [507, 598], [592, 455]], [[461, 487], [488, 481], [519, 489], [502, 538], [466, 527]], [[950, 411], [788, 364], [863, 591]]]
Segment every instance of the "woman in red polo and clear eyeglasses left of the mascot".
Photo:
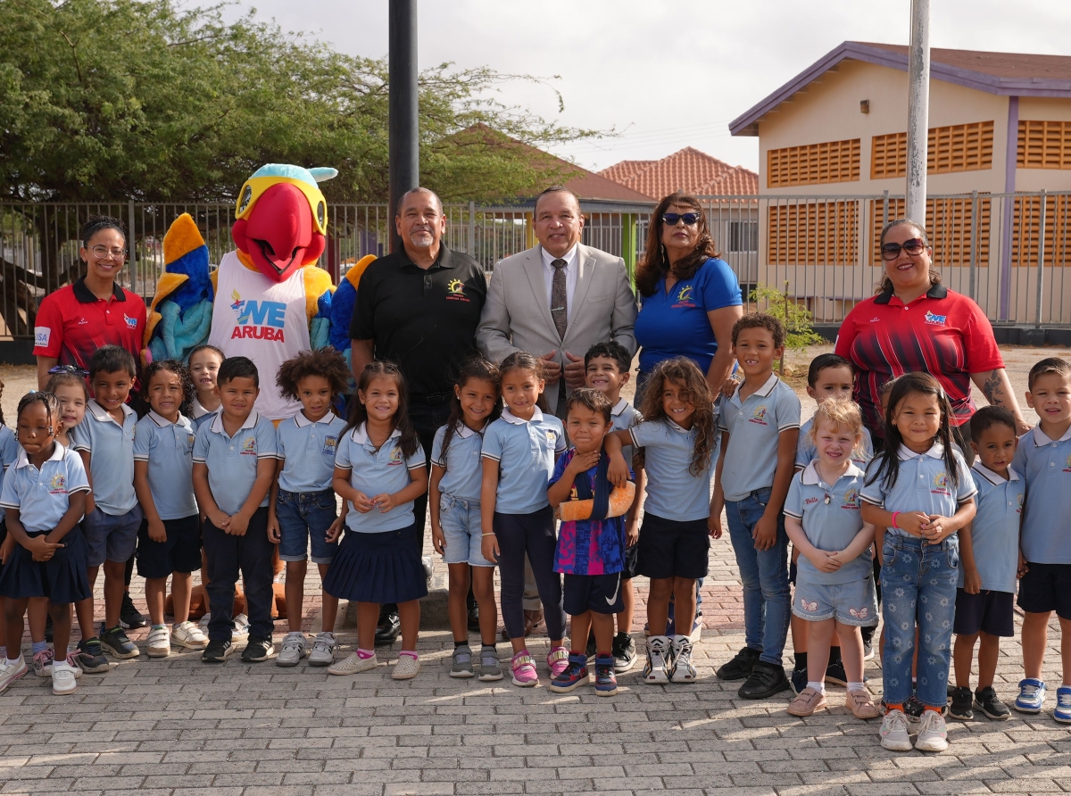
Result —
[[79, 239], [86, 275], [46, 296], [33, 326], [33, 356], [42, 390], [48, 384], [49, 369], [60, 364], [88, 371], [93, 351], [104, 345], [122, 346], [141, 364], [145, 302], [116, 284], [126, 261], [122, 222], [91, 215]]

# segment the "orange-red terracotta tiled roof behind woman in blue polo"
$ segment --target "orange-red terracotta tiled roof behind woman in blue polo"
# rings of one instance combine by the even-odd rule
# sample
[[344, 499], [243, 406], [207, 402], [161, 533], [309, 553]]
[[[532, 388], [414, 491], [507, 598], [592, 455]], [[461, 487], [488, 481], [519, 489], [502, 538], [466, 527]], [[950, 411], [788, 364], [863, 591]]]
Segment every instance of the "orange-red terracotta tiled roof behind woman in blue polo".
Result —
[[699, 195], [758, 193], [757, 174], [692, 147], [661, 161], [622, 161], [599, 174], [653, 199], [675, 191]]

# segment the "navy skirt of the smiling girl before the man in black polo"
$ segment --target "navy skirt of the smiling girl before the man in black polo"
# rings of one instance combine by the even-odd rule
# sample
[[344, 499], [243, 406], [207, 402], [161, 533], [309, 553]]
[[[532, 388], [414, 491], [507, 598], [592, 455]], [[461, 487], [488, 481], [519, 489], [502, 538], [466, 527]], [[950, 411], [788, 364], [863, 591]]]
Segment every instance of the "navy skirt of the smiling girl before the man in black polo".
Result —
[[379, 534], [346, 528], [323, 590], [357, 602], [408, 602], [427, 595], [413, 527]]

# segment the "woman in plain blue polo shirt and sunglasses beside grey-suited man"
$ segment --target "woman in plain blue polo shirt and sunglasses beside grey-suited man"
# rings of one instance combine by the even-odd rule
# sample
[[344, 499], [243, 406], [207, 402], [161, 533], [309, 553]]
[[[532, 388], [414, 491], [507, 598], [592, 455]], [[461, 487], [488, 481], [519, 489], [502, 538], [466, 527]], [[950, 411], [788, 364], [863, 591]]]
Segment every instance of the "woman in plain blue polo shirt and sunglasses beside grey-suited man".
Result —
[[651, 214], [647, 254], [636, 269], [640, 345], [636, 404], [654, 366], [688, 357], [707, 376], [711, 392], [722, 391], [733, 366], [733, 325], [743, 313], [740, 284], [718, 257], [703, 206], [675, 193]]

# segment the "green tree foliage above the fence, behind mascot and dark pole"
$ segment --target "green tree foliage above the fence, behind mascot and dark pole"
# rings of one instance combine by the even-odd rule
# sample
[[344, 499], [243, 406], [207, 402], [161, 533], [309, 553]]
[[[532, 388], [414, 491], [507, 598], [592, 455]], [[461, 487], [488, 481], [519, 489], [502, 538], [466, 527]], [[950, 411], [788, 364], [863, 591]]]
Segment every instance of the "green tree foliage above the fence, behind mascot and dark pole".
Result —
[[[384, 200], [386, 59], [224, 7], [3, 0], [0, 198], [229, 200], [276, 162], [337, 168], [329, 200]], [[530, 195], [570, 170], [530, 147], [599, 135], [502, 103], [513, 80], [554, 90], [488, 67], [422, 73], [421, 179], [444, 199]]]

